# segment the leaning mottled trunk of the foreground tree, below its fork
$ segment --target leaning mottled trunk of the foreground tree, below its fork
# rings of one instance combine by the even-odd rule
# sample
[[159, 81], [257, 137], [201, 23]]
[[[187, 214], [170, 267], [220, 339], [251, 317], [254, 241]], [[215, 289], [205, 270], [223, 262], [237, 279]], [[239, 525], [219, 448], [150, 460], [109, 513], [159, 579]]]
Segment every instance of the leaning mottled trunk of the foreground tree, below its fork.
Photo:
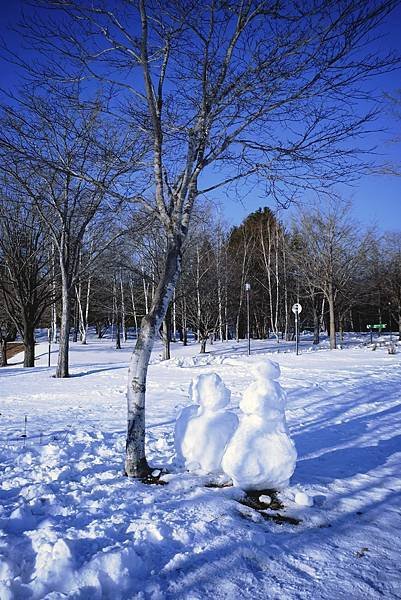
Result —
[[150, 469], [145, 454], [145, 393], [149, 360], [154, 342], [173, 297], [181, 272], [179, 236], [169, 241], [164, 272], [155, 290], [150, 311], [142, 319], [141, 331], [132, 353], [127, 389], [127, 442], [125, 472], [129, 477], [145, 477]]

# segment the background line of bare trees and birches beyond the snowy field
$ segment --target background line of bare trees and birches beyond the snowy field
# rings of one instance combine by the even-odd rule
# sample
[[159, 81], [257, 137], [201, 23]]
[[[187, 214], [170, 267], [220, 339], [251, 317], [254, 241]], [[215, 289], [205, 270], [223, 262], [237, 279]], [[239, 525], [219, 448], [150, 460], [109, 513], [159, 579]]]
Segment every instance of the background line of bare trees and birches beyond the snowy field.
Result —
[[[350, 208], [333, 203], [300, 208], [286, 226], [265, 207], [229, 227], [212, 216], [210, 206], [202, 207], [160, 327], [163, 357], [170, 358], [171, 343], [186, 345], [189, 336], [201, 353], [207, 343], [246, 337], [246, 284], [254, 339], [293, 340], [291, 307], [300, 302], [300, 327], [313, 334], [314, 344], [328, 332], [330, 347], [336, 348], [345, 331], [366, 331], [373, 322], [397, 330], [401, 340], [400, 236], [362, 231]], [[98, 218], [96, 235], [88, 232], [79, 244], [66, 306], [62, 266], [49, 228], [31, 204], [2, 199], [2, 366], [7, 341], [17, 334], [24, 343], [24, 366], [34, 366], [38, 327], [47, 328], [51, 341], [60, 343], [64, 376], [69, 344], [86, 344], [89, 326], [99, 339], [111, 336], [116, 349], [137, 339], [154, 298], [165, 239], [152, 223], [144, 222], [140, 234], [136, 225], [119, 230], [115, 224], [104, 235], [105, 223]], [[72, 238], [72, 248], [64, 251], [76, 252], [76, 243]]]

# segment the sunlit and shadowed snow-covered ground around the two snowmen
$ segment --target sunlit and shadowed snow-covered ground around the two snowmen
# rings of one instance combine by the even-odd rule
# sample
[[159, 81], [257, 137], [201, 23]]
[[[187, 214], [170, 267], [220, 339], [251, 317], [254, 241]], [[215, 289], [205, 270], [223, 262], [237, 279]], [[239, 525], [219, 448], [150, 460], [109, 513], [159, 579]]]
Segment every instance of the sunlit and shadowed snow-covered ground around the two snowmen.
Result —
[[[170, 471], [164, 486], [122, 475], [128, 346], [73, 344], [67, 380], [51, 377], [45, 343], [35, 369], [1, 369], [1, 600], [400, 598], [401, 348], [348, 342], [312, 352], [305, 341], [300, 356], [293, 344], [254, 342], [250, 358], [242, 343], [205, 356], [174, 344], [165, 363], [157, 350], [147, 448]], [[218, 373], [238, 406], [250, 363], [269, 352], [298, 451], [279, 512], [299, 525], [266, 520], [240, 490], [206, 487], [213, 477], [173, 462], [191, 379]], [[295, 502], [299, 491], [312, 507], [302, 494]]]

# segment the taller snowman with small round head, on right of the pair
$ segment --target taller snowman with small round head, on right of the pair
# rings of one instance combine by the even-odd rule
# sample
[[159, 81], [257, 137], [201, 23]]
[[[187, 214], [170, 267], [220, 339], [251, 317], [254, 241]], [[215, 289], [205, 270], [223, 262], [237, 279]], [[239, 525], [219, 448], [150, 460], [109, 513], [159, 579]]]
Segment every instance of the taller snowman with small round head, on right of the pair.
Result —
[[223, 456], [223, 471], [243, 490], [281, 490], [295, 470], [297, 452], [285, 420], [280, 367], [267, 361], [251, 368], [255, 381], [240, 403], [244, 413]]

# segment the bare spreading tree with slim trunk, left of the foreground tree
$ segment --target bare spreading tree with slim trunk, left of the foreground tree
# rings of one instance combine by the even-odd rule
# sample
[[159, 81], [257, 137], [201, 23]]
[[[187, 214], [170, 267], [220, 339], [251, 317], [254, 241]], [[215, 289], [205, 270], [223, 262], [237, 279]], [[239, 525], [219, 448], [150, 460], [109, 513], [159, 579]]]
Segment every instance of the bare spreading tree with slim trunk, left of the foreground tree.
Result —
[[2, 168], [25, 192], [58, 254], [62, 308], [56, 377], [69, 375], [71, 307], [80, 255], [95, 218], [97, 226], [91, 232], [97, 237], [97, 250], [92, 260], [101, 250], [99, 213], [106, 203], [108, 220], [114, 216], [107, 193], [120, 174], [125, 142], [102, 121], [97, 102], [79, 103], [76, 88], [67, 100], [63, 95], [25, 94], [17, 107], [3, 108]]

